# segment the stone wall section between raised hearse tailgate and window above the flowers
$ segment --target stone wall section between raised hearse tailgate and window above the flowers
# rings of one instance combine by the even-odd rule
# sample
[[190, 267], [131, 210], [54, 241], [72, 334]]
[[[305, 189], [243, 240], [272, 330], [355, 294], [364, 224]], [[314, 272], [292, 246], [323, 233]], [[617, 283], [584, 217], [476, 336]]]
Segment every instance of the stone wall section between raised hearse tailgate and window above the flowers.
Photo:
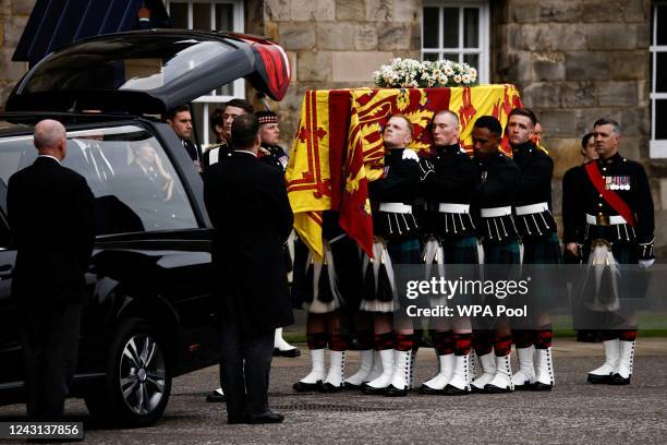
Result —
[[279, 106], [282, 134], [294, 134], [306, 89], [373, 86], [371, 73], [380, 64], [419, 59], [421, 17], [421, 0], [264, 0], [263, 34], [287, 50], [292, 65]]

